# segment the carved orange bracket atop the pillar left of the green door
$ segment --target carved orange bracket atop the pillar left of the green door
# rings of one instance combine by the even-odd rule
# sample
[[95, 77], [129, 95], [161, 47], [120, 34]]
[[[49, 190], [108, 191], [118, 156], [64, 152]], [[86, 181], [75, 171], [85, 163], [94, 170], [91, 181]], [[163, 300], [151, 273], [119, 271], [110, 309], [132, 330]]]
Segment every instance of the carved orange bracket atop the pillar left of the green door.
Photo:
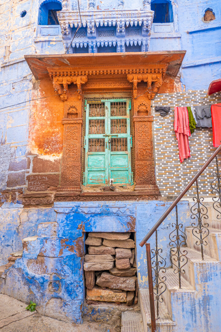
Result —
[[56, 95], [60, 95], [61, 100], [68, 99], [68, 85], [74, 83], [77, 85], [78, 99], [82, 98], [82, 84], [87, 82], [87, 75], [53, 76], [53, 87]]

